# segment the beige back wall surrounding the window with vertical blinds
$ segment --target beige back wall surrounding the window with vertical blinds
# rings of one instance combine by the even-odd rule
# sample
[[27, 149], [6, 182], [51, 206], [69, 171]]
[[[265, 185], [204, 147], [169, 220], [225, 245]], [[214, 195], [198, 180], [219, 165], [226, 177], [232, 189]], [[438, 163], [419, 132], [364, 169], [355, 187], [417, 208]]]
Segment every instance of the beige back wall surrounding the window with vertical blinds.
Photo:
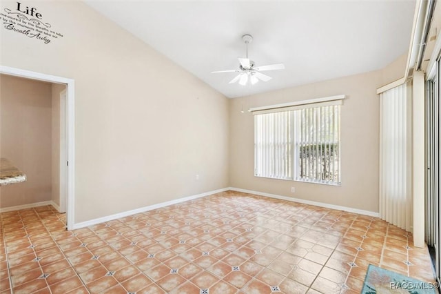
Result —
[[[376, 88], [382, 72], [343, 77], [232, 99], [230, 113], [230, 185], [236, 188], [378, 212], [378, 122]], [[341, 186], [254, 177], [254, 120], [241, 107], [347, 95], [341, 110]], [[291, 193], [291, 187], [296, 193]]]

